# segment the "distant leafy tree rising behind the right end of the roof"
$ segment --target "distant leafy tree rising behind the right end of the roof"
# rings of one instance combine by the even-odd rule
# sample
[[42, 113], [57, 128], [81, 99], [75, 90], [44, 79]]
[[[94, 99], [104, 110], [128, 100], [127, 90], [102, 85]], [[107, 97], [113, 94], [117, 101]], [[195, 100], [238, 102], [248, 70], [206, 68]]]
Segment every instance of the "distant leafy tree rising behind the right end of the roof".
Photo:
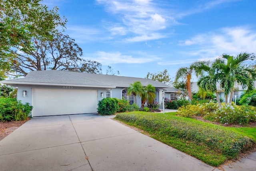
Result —
[[167, 70], [158, 73], [148, 72], [146, 79], [162, 82], [164, 84], [172, 85], [172, 80]]

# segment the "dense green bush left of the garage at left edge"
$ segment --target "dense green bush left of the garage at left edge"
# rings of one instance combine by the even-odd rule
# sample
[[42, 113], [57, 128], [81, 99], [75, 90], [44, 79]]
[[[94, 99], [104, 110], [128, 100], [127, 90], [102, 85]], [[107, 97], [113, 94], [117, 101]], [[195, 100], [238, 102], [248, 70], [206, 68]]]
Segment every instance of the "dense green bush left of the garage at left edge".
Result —
[[22, 104], [14, 98], [0, 98], [0, 121], [23, 121], [32, 111], [29, 103]]

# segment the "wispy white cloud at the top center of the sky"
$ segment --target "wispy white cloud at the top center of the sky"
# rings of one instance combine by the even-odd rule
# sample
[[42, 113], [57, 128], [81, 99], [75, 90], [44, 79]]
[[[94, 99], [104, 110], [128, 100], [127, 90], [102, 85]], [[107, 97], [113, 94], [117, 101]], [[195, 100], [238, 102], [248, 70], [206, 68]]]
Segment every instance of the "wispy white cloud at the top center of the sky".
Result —
[[[151, 0], [97, 0], [97, 2], [103, 4], [106, 11], [115, 14], [120, 21], [110, 26], [108, 23], [107, 28], [113, 35], [133, 34], [133, 38], [125, 39], [128, 42], [152, 40], [152, 35], [159, 34], [160, 30], [175, 23], [173, 18], [166, 15], [163, 8], [158, 8], [159, 4]], [[158, 39], [158, 36], [154, 36], [154, 39]]]

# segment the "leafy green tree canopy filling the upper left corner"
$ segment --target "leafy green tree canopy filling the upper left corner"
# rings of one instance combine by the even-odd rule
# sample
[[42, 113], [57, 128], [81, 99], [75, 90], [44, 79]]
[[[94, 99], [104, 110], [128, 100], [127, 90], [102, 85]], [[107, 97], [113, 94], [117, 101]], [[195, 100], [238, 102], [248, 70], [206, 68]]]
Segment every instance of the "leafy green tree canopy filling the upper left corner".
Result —
[[0, 77], [10, 70], [16, 56], [10, 51], [18, 48], [32, 50], [32, 38], [53, 38], [66, 19], [58, 8], [48, 10], [41, 0], [2, 0], [0, 2]]

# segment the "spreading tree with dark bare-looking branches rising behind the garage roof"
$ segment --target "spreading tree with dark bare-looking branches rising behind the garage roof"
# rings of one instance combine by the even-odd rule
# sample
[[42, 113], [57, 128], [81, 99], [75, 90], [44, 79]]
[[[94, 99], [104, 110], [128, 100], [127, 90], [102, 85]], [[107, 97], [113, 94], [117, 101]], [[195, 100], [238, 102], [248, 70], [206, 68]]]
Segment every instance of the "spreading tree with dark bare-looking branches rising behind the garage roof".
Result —
[[12, 53], [12, 70], [20, 76], [26, 76], [36, 70], [78, 70], [82, 62], [82, 49], [68, 35], [58, 33], [52, 40], [34, 40], [34, 49]]

